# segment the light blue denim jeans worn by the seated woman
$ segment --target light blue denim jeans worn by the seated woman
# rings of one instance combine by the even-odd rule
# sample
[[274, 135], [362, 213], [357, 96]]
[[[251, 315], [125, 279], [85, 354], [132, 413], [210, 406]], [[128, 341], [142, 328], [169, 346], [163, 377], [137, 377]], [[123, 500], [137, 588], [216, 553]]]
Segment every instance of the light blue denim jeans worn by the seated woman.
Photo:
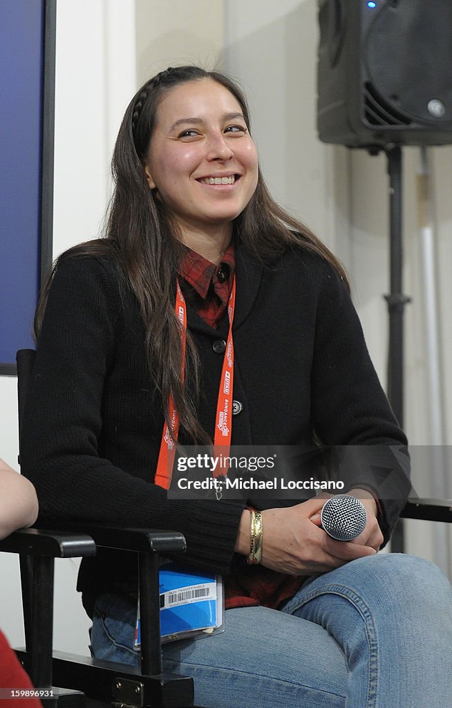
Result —
[[[94, 656], [137, 665], [137, 607], [98, 598]], [[211, 708], [451, 708], [452, 589], [428, 561], [377, 554], [308, 582], [282, 611], [226, 611], [221, 634], [163, 646]]]

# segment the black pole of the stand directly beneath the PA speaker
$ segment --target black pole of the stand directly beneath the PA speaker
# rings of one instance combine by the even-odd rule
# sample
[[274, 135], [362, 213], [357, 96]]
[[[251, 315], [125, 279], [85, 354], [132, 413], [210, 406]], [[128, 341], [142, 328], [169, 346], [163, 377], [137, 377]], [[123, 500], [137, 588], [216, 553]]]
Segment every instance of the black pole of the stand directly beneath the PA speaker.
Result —
[[[403, 426], [403, 315], [411, 298], [402, 292], [402, 149], [385, 147], [389, 174], [390, 293], [385, 295], [389, 314], [388, 399], [400, 426]], [[403, 526], [399, 520], [391, 537], [391, 550], [402, 553]]]

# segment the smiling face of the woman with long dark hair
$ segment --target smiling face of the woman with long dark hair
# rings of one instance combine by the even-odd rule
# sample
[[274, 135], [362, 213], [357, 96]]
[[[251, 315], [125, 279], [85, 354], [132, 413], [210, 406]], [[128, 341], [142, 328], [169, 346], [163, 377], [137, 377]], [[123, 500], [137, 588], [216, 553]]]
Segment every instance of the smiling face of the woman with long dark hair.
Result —
[[233, 94], [209, 78], [170, 89], [158, 105], [145, 172], [182, 235], [231, 231], [257, 184], [255, 144]]

